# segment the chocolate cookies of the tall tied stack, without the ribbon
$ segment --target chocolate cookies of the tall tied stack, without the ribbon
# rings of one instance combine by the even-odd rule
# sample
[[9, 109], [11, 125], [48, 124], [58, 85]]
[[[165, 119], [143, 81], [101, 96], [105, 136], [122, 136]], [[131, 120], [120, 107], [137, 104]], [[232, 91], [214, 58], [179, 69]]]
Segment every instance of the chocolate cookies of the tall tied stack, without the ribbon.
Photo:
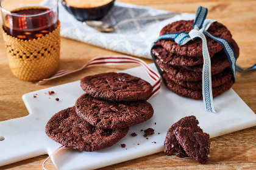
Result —
[[[193, 29], [194, 21], [176, 21], [166, 25], [160, 35], [166, 33], [190, 32]], [[213, 22], [207, 32], [213, 36], [224, 38], [230, 42], [239, 56], [239, 48], [232, 39], [230, 31], [221, 23]], [[219, 44], [212, 38], [207, 38], [208, 52], [211, 58], [212, 67], [212, 91], [216, 97], [233, 85], [233, 75], [226, 53]], [[163, 69], [163, 82], [172, 92], [183, 97], [202, 99], [202, 40], [195, 39], [180, 46], [175, 41], [162, 39], [153, 47], [153, 53], [157, 57], [156, 63]]]

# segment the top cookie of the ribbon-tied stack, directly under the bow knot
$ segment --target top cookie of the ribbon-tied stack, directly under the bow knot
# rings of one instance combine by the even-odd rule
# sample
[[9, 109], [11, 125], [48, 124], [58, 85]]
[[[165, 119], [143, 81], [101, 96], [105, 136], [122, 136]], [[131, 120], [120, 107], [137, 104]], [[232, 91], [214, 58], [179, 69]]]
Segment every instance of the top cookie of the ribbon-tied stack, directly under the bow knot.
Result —
[[[190, 32], [193, 29], [194, 20], [190, 21], [176, 21], [172, 22], [171, 24], [166, 25], [160, 32], [160, 35], [166, 33], [179, 33], [179, 32]], [[208, 28], [207, 32], [212, 34], [213, 36], [217, 36], [219, 38], [224, 38], [228, 42], [231, 42], [232, 35], [230, 31], [221, 23], [213, 22], [213, 24]], [[207, 46], [210, 55], [213, 55], [223, 49], [219, 42], [213, 40], [212, 38], [208, 37], [207, 35]], [[168, 52], [176, 53], [178, 55], [185, 55], [185, 56], [202, 56], [202, 39], [197, 38], [194, 41], [191, 40], [187, 42], [187, 44], [180, 46], [175, 41], [162, 39], [160, 40], [163, 48], [168, 50]]]

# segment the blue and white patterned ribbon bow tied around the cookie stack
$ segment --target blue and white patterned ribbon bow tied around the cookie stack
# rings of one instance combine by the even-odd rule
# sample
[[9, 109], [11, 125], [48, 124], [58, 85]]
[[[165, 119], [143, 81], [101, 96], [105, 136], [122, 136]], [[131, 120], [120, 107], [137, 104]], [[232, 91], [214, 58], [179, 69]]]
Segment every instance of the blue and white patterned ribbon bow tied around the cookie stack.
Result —
[[[210, 38], [214, 39], [215, 41], [221, 43], [223, 46], [227, 58], [231, 64], [233, 78], [235, 81], [235, 72], [236, 72], [236, 56], [233, 48], [230, 46], [229, 42], [226, 39], [218, 38], [216, 36], [211, 35], [207, 32], [207, 29], [213, 22], [216, 22], [213, 19], [205, 19], [207, 16], [208, 10], [204, 7], [199, 6], [196, 10], [196, 19], [194, 19], [194, 29], [190, 32], [180, 32], [180, 33], [168, 33], [165, 35], [161, 35], [157, 38], [156, 41], [152, 44], [152, 47], [155, 43], [160, 39], [171, 39], [177, 44], [183, 46], [190, 40], [194, 40], [196, 38], [202, 39], [202, 54], [204, 58], [203, 70], [202, 70], [202, 96], [204, 101], [205, 110], [209, 112], [215, 112], [215, 108], [213, 106], [213, 95], [212, 95], [212, 75], [211, 75], [211, 60], [210, 55], [207, 48], [207, 41], [205, 35], [208, 35]], [[155, 66], [157, 66], [157, 70], [162, 75], [162, 70], [155, 62], [155, 55], [152, 53], [151, 47], [151, 55]]]

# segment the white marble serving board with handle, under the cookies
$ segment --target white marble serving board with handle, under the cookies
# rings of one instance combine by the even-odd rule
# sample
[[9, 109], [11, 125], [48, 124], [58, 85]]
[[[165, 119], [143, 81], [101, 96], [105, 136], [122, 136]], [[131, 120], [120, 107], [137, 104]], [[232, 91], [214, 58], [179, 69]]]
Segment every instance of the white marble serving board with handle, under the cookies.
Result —
[[[153, 64], [150, 66], [155, 69]], [[142, 67], [123, 72], [152, 83]], [[4, 140], [0, 140], [0, 166], [51, 154], [61, 146], [44, 133], [44, 127], [52, 115], [74, 106], [77, 98], [84, 94], [79, 84], [80, 81], [75, 81], [23, 95], [29, 115], [0, 122], [0, 138], [4, 137]], [[51, 90], [55, 94], [49, 95], [48, 91]], [[60, 100], [56, 101], [55, 98]], [[200, 122], [199, 126], [211, 138], [256, 126], [256, 115], [232, 89], [214, 98], [215, 114], [204, 110], [202, 100], [180, 97], [168, 90], [163, 83], [160, 92], [149, 102], [154, 107], [154, 116], [144, 123], [130, 127], [126, 137], [112, 147], [96, 152], [63, 149], [52, 157], [54, 165], [61, 170], [96, 169], [161, 152], [168, 128], [188, 115], [195, 115]], [[155, 134], [146, 140], [140, 130], [148, 127], [155, 129]], [[137, 137], [132, 137], [132, 132], [136, 132]], [[121, 143], [126, 144], [126, 148], [121, 148]]]

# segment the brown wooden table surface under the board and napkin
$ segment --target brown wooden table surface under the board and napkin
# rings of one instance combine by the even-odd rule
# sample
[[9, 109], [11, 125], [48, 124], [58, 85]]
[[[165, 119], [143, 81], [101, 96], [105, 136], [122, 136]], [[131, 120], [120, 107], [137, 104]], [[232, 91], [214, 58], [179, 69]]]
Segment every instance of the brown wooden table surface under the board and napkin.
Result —
[[[191, 0], [122, 0], [137, 5], [145, 5], [171, 12], [194, 13], [199, 5], [208, 8], [208, 18], [216, 19], [232, 32], [233, 38], [240, 47], [240, 58], [237, 63], [249, 67], [256, 63], [256, 1], [225, 0], [225, 1], [191, 1]], [[2, 36], [2, 35], [0, 35]], [[60, 69], [77, 69], [95, 56], [116, 55], [119, 53], [101, 49], [99, 47], [61, 39]], [[151, 60], [144, 60], [152, 63]], [[85, 75], [118, 71], [134, 67], [102, 66], [90, 67], [72, 75], [67, 75], [49, 83], [36, 86], [34, 83], [18, 80], [10, 72], [4, 41], [0, 38], [0, 121], [24, 117], [28, 114], [21, 99], [23, 94], [34, 90], [44, 89], [59, 84], [80, 80]], [[233, 90], [244, 102], [256, 111], [256, 71], [238, 73]], [[1, 134], [0, 134], [1, 135]], [[212, 138], [210, 155], [207, 163], [201, 165], [191, 158], [167, 156], [163, 152], [146, 157], [118, 163], [102, 169], [256, 169], [256, 127], [244, 129]], [[1, 141], [0, 141], [1, 144]], [[150, 149], [150, 148], [149, 148]], [[0, 151], [1, 154], [1, 151]], [[0, 169], [41, 169], [44, 159], [48, 155], [30, 158]], [[55, 169], [51, 161], [46, 165], [48, 169]]]

